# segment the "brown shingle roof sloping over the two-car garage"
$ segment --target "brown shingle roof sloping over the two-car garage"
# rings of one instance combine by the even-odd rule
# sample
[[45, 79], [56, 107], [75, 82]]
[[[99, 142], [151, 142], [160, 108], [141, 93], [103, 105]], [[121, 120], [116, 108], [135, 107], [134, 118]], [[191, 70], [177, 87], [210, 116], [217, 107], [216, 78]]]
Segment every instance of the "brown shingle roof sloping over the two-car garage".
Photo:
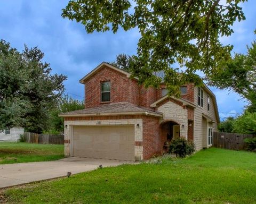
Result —
[[145, 107], [140, 107], [136, 106], [134, 104], [130, 104], [127, 102], [119, 102], [119, 103], [110, 103], [110, 104], [103, 104], [97, 107], [92, 107], [92, 108], [85, 108], [82, 110], [77, 110], [77, 111], [71, 111], [67, 113], [62, 113], [60, 116], [71, 116], [71, 115], [91, 115], [91, 114], [115, 114], [117, 115], [118, 113], [134, 113], [136, 114], [141, 114], [141, 112], [144, 112], [146, 115], [147, 114], [156, 114], [158, 116], [162, 116], [162, 113], [160, 112], [155, 112], [151, 109], [145, 108]]

